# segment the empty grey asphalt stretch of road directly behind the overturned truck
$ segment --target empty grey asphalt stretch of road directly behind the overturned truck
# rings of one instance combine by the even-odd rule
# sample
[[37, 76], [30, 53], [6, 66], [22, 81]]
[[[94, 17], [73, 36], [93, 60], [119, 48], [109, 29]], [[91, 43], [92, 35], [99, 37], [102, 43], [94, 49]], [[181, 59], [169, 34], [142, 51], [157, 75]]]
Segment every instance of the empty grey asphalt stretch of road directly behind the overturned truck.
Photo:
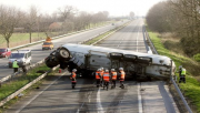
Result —
[[143, 24], [143, 19], [132, 21], [124, 29], [119, 30], [107, 40], [98, 43], [98, 47], [117, 48], [147, 53], [142, 32]]

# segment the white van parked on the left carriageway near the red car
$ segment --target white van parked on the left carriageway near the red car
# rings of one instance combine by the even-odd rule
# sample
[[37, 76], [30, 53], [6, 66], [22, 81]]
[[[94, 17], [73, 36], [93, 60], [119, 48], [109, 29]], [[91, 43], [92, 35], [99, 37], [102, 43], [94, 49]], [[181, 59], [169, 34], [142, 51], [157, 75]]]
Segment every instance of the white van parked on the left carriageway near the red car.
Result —
[[31, 64], [31, 50], [18, 50], [11, 53], [9, 58], [9, 68], [12, 68], [12, 62], [17, 60], [18, 65], [21, 68], [22, 65]]

